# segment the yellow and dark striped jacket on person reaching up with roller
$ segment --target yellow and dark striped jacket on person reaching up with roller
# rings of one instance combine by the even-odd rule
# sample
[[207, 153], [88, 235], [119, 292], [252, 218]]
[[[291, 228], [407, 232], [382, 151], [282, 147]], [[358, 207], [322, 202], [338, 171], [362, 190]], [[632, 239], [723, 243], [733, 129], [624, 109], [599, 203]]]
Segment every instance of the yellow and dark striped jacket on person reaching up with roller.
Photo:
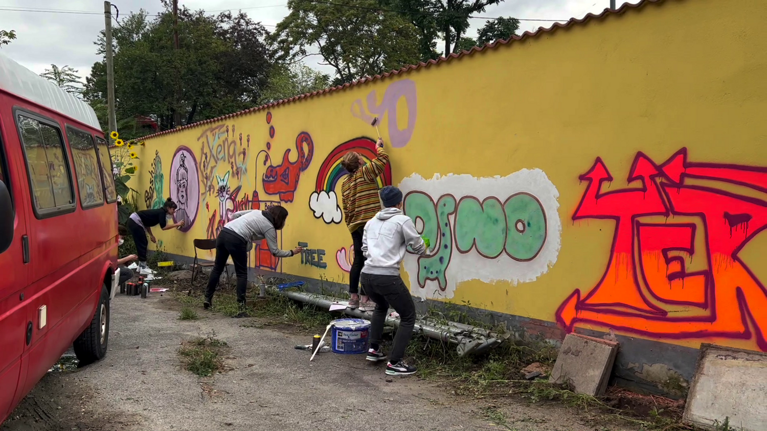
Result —
[[377, 152], [377, 158], [361, 166], [354, 174], [347, 175], [341, 184], [344, 218], [350, 232], [364, 226], [381, 209], [376, 179], [389, 163], [389, 155], [382, 148]]

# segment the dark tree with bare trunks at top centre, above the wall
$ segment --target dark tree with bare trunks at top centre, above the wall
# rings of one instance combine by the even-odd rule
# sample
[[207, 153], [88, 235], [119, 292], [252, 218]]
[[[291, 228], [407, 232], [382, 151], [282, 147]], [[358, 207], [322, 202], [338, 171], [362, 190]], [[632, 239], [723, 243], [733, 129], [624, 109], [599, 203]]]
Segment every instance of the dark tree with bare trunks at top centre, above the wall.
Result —
[[443, 55], [457, 52], [466, 41], [469, 16], [483, 12], [489, 5], [503, 0], [380, 0], [386, 8], [400, 11], [420, 32], [421, 55], [433, 58], [434, 41], [442, 38]]

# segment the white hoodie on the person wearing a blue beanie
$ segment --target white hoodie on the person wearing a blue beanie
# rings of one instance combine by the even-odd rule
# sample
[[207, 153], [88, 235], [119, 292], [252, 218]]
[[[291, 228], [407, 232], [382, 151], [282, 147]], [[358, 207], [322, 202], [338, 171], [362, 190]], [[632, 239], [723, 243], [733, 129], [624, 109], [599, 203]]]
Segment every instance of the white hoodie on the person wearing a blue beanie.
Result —
[[402, 210], [385, 208], [365, 224], [362, 235], [362, 253], [367, 260], [363, 273], [379, 276], [399, 276], [400, 263], [407, 246], [416, 254], [426, 254], [426, 244], [416, 225]]

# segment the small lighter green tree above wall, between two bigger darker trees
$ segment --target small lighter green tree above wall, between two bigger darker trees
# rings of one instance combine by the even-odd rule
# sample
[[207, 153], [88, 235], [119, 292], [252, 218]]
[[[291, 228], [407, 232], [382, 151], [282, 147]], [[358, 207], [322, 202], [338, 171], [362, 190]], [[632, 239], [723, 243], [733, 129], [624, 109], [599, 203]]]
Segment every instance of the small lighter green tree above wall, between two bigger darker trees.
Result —
[[331, 77], [305, 64], [275, 64], [262, 103], [272, 103], [293, 96], [312, 93], [330, 87]]

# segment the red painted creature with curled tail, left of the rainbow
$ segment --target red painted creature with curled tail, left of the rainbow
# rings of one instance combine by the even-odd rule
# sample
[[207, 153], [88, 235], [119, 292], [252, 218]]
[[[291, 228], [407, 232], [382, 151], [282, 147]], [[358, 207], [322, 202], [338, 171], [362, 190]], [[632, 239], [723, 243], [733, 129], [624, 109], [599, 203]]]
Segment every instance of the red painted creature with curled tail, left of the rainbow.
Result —
[[[274, 136], [274, 126], [269, 129], [269, 135], [271, 137]], [[306, 149], [304, 149], [304, 145]], [[267, 147], [271, 147], [269, 142], [267, 142]], [[295, 162], [290, 161], [291, 149], [286, 149], [282, 155], [281, 164], [277, 166], [269, 165], [262, 178], [264, 192], [266, 194], [278, 195], [280, 201], [283, 202], [293, 201], [295, 191], [298, 188], [298, 180], [301, 178], [301, 172], [305, 171], [309, 164], [311, 164], [311, 158], [314, 155], [314, 141], [311, 140], [311, 136], [307, 132], [298, 133], [298, 136], [295, 138], [295, 149], [298, 152], [298, 158], [296, 158]], [[267, 161], [272, 161], [272, 158], [268, 156], [268, 152], [265, 153], [267, 158], [264, 160], [264, 164]]]

